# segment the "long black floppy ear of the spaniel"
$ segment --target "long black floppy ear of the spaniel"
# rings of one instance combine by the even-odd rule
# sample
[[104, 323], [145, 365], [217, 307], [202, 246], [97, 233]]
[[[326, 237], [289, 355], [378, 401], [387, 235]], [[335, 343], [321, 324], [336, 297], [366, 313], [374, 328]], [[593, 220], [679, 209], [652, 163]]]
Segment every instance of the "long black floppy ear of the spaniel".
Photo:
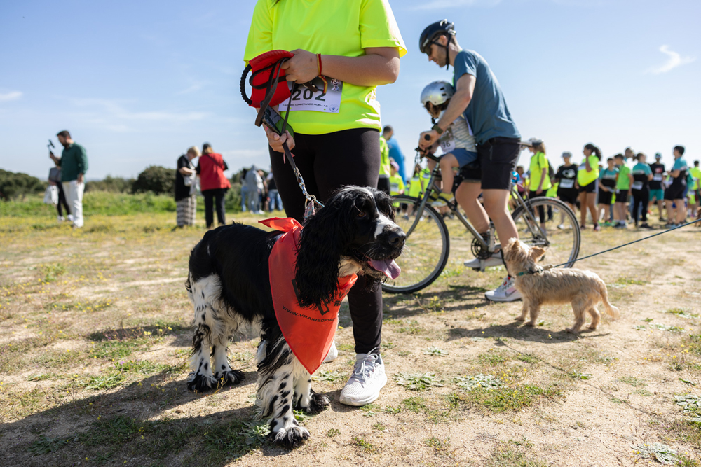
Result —
[[341, 253], [355, 235], [351, 193], [332, 197], [304, 223], [297, 253], [297, 291], [299, 305], [322, 305], [336, 292]]

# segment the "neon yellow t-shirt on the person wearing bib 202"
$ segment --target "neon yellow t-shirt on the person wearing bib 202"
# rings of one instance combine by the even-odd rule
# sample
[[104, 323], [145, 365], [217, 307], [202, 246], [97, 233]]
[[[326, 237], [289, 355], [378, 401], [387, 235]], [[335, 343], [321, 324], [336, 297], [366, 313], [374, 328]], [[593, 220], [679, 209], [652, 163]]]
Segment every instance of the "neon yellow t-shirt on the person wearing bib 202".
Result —
[[[370, 47], [397, 48], [400, 57], [407, 53], [388, 0], [258, 0], [243, 60], [248, 64], [278, 49], [359, 57]], [[292, 111], [288, 121], [301, 134], [380, 130], [375, 89], [343, 83], [339, 113]]]

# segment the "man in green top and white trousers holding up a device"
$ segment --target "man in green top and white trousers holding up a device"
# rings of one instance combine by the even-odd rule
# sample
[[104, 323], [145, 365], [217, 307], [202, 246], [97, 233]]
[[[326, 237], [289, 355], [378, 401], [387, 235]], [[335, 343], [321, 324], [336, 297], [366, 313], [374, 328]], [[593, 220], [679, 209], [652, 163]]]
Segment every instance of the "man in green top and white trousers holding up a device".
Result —
[[54, 153], [49, 157], [58, 167], [61, 167], [61, 185], [66, 200], [71, 207], [73, 227], [83, 227], [83, 191], [85, 190], [85, 174], [88, 172], [88, 155], [86, 149], [76, 144], [68, 130], [58, 132], [58, 142], [63, 145], [61, 157]]

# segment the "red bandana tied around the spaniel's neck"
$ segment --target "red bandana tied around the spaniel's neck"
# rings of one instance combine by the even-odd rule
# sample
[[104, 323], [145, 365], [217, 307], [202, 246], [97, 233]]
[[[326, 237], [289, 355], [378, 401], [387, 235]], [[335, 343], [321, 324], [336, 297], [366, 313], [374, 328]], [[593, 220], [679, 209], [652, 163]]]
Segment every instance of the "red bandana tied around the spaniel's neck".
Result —
[[329, 353], [339, 323], [341, 301], [351, 290], [358, 276], [351, 274], [341, 277], [334, 299], [325, 302], [321, 307], [300, 307], [294, 272], [302, 226], [293, 218], [279, 217], [265, 219], [259, 223], [285, 232], [273, 245], [268, 258], [273, 307], [287, 345], [311, 375]]

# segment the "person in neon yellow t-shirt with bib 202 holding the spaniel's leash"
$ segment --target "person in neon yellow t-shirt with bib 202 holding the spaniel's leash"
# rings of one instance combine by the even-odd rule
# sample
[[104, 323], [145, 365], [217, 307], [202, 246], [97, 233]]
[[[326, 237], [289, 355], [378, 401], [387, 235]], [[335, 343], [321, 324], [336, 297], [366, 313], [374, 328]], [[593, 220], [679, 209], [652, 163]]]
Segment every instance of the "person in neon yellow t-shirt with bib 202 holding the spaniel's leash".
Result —
[[[407, 48], [387, 0], [258, 0], [243, 60], [247, 64], [270, 50], [294, 54], [281, 66], [288, 83], [325, 76], [328, 84], [326, 90], [298, 90], [290, 110], [287, 101], [278, 106], [285, 109], [283, 117], [289, 113], [294, 139], [290, 132], [280, 136], [264, 127], [285, 214], [302, 222], [304, 196], [284, 163], [283, 143], [294, 150], [306, 188], [321, 202], [341, 186], [376, 187], [381, 159], [376, 87], [397, 80]], [[339, 398], [346, 405], [372, 403], [387, 382], [379, 353], [382, 290], [368, 285], [359, 277], [348, 293], [356, 363]], [[332, 345], [326, 361], [337, 355]], [[287, 428], [280, 421], [273, 431]]]

